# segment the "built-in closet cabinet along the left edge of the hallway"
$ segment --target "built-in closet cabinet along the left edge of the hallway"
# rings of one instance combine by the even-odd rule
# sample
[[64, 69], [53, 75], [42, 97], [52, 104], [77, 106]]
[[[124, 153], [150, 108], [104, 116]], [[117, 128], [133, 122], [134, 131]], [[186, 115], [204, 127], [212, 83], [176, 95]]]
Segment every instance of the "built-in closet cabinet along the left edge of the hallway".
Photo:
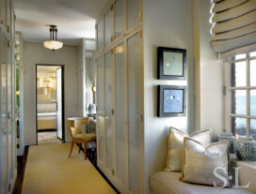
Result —
[[12, 193], [17, 176], [15, 105], [15, 15], [12, 0], [0, 7], [0, 193]]

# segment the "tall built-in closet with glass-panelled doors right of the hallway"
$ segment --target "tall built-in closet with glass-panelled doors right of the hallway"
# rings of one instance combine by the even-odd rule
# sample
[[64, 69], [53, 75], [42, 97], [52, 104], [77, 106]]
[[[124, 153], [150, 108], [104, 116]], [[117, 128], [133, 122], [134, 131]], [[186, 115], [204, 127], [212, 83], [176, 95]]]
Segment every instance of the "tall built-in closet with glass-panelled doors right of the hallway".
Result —
[[113, 0], [96, 24], [99, 168], [121, 193], [143, 192], [140, 0]]

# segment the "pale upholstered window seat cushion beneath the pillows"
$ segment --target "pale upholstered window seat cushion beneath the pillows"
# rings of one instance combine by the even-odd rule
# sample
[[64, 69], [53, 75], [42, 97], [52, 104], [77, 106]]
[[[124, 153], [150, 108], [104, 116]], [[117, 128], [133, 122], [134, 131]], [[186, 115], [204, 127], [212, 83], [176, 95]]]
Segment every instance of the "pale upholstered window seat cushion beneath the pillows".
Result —
[[216, 188], [180, 181], [181, 172], [156, 172], [150, 176], [151, 194], [251, 194], [243, 188]]

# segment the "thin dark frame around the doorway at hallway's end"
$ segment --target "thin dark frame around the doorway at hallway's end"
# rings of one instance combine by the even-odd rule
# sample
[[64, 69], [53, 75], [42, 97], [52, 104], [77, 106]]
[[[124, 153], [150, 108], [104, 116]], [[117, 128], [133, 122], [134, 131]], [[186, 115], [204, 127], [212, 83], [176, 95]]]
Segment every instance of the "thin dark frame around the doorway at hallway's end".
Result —
[[64, 77], [64, 71], [65, 71], [65, 65], [59, 65], [59, 64], [36, 64], [36, 144], [38, 145], [38, 67], [39, 66], [56, 66], [61, 68], [61, 106], [62, 106], [62, 138], [63, 140], [60, 140], [62, 142], [65, 142], [65, 90], [64, 90], [64, 84], [65, 84], [65, 77]]

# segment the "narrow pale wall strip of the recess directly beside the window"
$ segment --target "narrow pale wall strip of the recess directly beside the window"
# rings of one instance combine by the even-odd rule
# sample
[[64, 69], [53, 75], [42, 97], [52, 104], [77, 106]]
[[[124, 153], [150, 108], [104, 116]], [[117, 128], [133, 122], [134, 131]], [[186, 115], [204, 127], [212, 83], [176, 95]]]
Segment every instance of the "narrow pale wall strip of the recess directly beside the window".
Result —
[[210, 47], [211, 0], [200, 0], [200, 128], [211, 127], [213, 138], [223, 130], [222, 62]]

